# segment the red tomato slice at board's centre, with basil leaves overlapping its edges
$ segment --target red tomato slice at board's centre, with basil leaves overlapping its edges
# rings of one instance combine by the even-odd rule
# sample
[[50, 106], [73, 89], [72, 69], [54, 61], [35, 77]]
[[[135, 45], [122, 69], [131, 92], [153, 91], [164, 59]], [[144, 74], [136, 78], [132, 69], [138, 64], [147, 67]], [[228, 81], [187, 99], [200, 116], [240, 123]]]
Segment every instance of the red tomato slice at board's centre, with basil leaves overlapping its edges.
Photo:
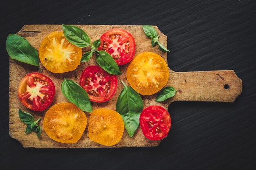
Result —
[[80, 77], [79, 85], [85, 89], [92, 102], [106, 102], [117, 91], [117, 76], [99, 66], [88, 66]]

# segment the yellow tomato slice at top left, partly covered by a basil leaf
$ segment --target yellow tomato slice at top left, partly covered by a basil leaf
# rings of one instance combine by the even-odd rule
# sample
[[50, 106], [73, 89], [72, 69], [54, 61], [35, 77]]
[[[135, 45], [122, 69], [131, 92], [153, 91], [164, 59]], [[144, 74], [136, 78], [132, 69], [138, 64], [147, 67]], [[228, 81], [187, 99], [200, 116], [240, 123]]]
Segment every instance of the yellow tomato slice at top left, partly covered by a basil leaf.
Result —
[[80, 64], [82, 49], [66, 40], [62, 31], [49, 33], [39, 47], [43, 66], [53, 73], [72, 71]]

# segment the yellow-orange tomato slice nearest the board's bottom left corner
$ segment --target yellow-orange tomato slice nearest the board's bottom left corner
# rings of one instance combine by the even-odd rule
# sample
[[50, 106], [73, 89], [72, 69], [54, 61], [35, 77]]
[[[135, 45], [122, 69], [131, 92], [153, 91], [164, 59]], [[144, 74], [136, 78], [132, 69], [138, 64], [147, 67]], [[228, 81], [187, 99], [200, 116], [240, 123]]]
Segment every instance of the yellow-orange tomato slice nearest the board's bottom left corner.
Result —
[[86, 124], [85, 113], [76, 105], [58, 103], [45, 113], [43, 127], [54, 141], [74, 144], [81, 138]]

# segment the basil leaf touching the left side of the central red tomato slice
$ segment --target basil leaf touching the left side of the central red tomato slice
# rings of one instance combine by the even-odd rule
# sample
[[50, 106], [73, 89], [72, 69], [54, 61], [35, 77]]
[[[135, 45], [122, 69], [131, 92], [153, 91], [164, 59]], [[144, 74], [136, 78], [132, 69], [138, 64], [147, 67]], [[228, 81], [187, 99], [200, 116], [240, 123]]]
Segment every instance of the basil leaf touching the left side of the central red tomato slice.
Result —
[[85, 112], [92, 112], [92, 105], [85, 90], [71, 79], [64, 79], [61, 84], [63, 95]]

